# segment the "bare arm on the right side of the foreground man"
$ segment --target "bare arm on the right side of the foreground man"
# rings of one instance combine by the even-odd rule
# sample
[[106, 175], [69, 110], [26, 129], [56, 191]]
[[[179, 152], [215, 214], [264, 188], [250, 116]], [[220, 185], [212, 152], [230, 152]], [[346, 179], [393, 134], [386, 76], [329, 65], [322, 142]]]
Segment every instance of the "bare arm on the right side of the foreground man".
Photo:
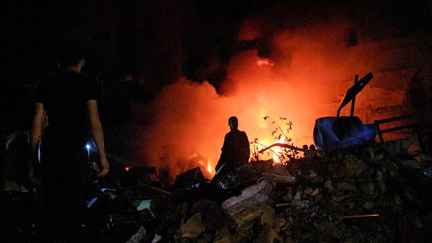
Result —
[[105, 154], [104, 132], [101, 120], [99, 119], [98, 104], [96, 100], [87, 101], [88, 119], [90, 122], [90, 132], [101, 159], [102, 171], [98, 176], [105, 176], [109, 170], [109, 163]]

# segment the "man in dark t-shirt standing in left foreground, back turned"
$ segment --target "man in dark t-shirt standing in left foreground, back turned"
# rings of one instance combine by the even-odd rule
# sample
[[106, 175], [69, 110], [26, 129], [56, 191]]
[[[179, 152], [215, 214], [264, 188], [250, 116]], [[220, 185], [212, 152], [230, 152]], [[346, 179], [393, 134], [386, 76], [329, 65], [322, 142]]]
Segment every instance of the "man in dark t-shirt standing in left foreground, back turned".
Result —
[[96, 83], [81, 75], [84, 62], [83, 54], [67, 50], [58, 61], [62, 71], [43, 81], [36, 93], [30, 133], [33, 166], [38, 163], [45, 113], [49, 121], [40, 148], [47, 221], [42, 234], [51, 235], [48, 241], [73, 241], [88, 174], [85, 145], [89, 132], [100, 155], [102, 171], [98, 176], [105, 176], [109, 170], [97, 108], [98, 89]]

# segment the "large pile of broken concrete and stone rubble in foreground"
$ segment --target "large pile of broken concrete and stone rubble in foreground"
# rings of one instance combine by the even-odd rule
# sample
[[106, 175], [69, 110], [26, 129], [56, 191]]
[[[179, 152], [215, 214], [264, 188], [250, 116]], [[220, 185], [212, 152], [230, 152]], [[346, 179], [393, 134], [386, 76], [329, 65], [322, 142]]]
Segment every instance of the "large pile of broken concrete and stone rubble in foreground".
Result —
[[153, 200], [141, 242], [428, 242], [432, 158], [409, 155], [409, 145], [372, 143], [287, 165], [251, 162], [237, 178], [250, 180], [237, 191], [204, 183]]

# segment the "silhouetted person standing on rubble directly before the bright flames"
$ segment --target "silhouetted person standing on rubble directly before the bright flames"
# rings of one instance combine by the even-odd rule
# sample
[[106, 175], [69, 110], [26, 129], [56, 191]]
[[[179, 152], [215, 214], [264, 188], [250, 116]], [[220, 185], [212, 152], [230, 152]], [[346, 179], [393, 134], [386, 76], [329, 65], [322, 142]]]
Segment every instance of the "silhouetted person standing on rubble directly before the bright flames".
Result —
[[228, 119], [230, 132], [223, 140], [222, 153], [216, 165], [216, 173], [222, 167], [235, 168], [249, 161], [249, 140], [245, 132], [240, 131], [239, 120], [235, 116]]

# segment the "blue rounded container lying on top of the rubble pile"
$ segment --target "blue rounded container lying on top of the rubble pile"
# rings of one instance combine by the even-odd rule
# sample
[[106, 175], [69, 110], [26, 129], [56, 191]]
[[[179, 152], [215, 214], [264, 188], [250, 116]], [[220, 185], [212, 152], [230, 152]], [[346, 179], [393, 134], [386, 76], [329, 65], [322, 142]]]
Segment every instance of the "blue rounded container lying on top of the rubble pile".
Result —
[[360, 145], [376, 135], [375, 125], [363, 124], [357, 116], [328, 116], [315, 121], [314, 143], [324, 151]]

